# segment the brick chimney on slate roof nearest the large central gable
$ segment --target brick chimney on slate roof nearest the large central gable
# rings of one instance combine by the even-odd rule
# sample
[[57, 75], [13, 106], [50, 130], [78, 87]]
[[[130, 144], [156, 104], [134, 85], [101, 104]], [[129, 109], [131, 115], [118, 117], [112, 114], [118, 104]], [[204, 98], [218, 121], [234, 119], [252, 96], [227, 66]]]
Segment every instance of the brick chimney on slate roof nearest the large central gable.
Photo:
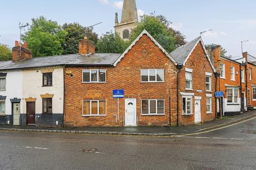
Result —
[[79, 41], [79, 55], [95, 53], [95, 46], [87, 37]]

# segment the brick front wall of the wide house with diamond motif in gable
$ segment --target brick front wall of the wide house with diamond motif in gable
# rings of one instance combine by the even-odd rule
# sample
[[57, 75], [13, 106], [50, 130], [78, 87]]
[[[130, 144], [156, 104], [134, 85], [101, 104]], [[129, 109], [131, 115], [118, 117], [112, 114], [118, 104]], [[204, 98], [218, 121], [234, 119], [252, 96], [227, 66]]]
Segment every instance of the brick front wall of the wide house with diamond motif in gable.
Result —
[[[145, 57], [142, 50], [149, 54]], [[141, 69], [164, 69], [163, 83], [141, 83]], [[82, 69], [106, 69], [107, 83], [82, 83]], [[67, 67], [73, 77], [65, 75], [65, 125], [66, 126], [123, 126], [124, 99], [119, 99], [119, 122], [115, 123], [117, 99], [114, 89], [124, 89], [125, 98], [137, 99], [138, 125], [169, 125], [169, 98], [171, 114], [177, 108], [174, 63], [146, 35], [132, 47], [116, 67]], [[170, 91], [171, 90], [171, 91]], [[171, 96], [170, 96], [171, 94]], [[85, 99], [107, 100], [107, 116], [82, 117], [82, 101]], [[141, 116], [141, 99], [164, 99], [164, 116]]]

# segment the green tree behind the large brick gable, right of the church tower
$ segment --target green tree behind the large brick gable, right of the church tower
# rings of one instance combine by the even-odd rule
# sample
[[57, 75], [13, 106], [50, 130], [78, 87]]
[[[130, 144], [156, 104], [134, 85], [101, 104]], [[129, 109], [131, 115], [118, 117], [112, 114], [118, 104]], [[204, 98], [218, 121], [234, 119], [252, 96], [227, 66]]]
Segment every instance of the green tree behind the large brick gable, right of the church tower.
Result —
[[146, 29], [167, 52], [172, 52], [175, 48], [186, 44], [186, 37], [172, 29], [170, 23], [163, 15], [143, 15], [138, 27], [131, 33], [130, 43]]

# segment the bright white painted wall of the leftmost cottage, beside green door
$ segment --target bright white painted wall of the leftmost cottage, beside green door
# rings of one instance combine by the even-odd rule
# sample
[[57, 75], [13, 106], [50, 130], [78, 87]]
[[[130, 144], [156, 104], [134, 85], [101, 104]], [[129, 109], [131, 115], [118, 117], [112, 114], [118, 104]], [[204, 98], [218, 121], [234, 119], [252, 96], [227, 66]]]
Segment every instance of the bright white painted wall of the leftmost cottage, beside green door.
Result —
[[[10, 99], [18, 98], [22, 99], [22, 71], [4, 71], [6, 75], [6, 90], [0, 91], [1, 96], [6, 96], [5, 99], [5, 114], [12, 114], [12, 103]], [[22, 102], [20, 105], [22, 108]], [[22, 111], [21, 111], [22, 113]]]

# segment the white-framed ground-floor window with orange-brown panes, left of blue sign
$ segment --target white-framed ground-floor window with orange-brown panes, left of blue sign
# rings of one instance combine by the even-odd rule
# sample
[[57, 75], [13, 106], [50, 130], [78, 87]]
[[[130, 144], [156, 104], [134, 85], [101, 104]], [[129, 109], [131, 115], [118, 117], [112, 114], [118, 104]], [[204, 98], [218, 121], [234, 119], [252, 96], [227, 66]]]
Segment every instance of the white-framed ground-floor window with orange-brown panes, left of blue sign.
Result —
[[84, 100], [83, 116], [106, 116], [106, 100]]

